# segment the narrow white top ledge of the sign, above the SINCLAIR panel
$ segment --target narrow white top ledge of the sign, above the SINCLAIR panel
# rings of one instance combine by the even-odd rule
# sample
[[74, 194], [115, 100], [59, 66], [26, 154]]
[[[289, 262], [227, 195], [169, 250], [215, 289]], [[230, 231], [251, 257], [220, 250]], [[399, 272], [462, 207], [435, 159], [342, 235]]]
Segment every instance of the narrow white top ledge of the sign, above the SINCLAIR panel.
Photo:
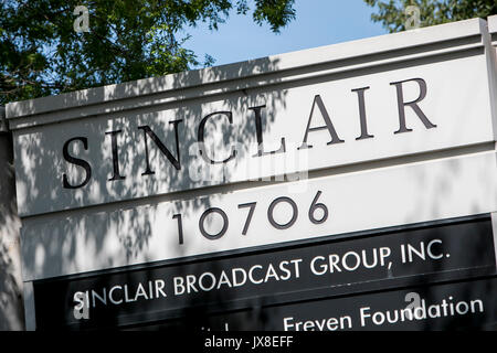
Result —
[[[490, 17], [489, 21], [495, 30], [497, 28], [497, 15]], [[220, 82], [243, 81], [248, 77], [275, 74], [303, 66], [441, 43], [482, 34], [483, 22], [485, 21], [482, 19], [464, 20], [220, 66], [13, 101], [6, 106], [6, 118], [14, 120], [68, 108], [83, 108], [103, 103], [178, 92]]]

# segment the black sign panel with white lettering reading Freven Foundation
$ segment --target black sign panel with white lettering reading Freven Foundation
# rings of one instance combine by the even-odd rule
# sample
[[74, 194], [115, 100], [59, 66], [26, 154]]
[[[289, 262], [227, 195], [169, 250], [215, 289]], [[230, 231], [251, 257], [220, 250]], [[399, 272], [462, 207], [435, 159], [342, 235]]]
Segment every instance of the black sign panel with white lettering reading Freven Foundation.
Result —
[[[140, 328], [144, 329], [144, 328]], [[497, 331], [497, 278], [172, 320], [148, 330]]]

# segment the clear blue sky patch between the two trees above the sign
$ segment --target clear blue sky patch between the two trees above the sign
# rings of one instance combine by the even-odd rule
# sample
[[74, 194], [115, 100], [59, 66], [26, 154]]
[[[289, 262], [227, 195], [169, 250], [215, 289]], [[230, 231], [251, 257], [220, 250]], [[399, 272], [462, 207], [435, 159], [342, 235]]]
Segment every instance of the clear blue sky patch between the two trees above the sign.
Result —
[[233, 11], [218, 31], [205, 24], [190, 29], [186, 46], [200, 60], [207, 53], [223, 65], [387, 33], [371, 21], [373, 9], [363, 0], [296, 0], [295, 8], [296, 19], [279, 34]]

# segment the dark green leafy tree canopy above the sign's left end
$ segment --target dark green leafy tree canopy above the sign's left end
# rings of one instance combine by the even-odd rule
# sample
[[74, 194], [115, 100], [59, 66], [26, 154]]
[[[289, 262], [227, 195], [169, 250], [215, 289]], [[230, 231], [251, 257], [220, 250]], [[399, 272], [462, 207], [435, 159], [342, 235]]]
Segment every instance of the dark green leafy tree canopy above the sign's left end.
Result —
[[[251, 9], [253, 4], [253, 9]], [[74, 31], [77, 6], [89, 31]], [[235, 10], [278, 32], [295, 18], [294, 0], [3, 0], [0, 1], [0, 105], [82, 88], [166, 75], [199, 60], [186, 30], [216, 30]]]

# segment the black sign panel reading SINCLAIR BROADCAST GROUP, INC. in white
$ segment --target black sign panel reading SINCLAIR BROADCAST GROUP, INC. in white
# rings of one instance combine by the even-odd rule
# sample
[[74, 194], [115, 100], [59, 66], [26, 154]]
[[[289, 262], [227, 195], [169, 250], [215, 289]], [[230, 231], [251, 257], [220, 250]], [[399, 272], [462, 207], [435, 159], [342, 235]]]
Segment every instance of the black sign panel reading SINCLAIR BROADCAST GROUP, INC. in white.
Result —
[[112, 328], [496, 272], [490, 218], [34, 282], [38, 329]]

